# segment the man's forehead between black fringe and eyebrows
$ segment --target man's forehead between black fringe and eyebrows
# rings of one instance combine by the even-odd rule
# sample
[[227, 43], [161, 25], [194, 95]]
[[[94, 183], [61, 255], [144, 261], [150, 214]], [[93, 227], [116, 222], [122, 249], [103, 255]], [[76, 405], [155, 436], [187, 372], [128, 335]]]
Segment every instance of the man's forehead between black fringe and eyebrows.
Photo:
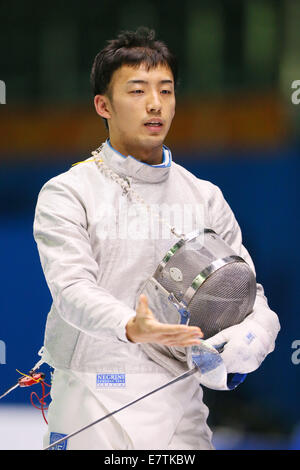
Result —
[[146, 82], [160, 82], [162, 80], [172, 80], [173, 73], [167, 65], [157, 65], [155, 68], [147, 70], [145, 64], [138, 67], [122, 65], [112, 76], [111, 87], [127, 85], [130, 80], [144, 80]]

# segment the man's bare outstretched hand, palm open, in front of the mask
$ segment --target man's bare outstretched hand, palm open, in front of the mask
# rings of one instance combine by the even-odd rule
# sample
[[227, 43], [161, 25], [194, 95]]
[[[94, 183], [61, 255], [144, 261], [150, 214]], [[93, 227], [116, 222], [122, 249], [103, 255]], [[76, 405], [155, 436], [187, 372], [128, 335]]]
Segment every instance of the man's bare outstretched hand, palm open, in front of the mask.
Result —
[[148, 307], [147, 297], [142, 294], [136, 316], [126, 325], [126, 334], [133, 343], [158, 343], [165, 346], [193, 346], [200, 344], [203, 333], [197, 326], [170, 325], [156, 320]]

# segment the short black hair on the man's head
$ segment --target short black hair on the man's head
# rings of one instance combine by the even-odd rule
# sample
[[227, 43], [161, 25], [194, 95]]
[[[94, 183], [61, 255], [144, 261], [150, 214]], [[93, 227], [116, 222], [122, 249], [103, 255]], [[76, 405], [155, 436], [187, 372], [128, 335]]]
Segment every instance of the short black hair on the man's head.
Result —
[[[91, 85], [94, 96], [109, 93], [113, 73], [122, 65], [139, 67], [145, 64], [147, 70], [166, 65], [174, 78], [174, 89], [178, 85], [178, 64], [175, 55], [166, 44], [155, 39], [155, 31], [140, 26], [136, 31], [121, 31], [116, 39], [107, 41], [106, 47], [95, 57], [91, 70]], [[103, 118], [108, 129], [107, 119]]]

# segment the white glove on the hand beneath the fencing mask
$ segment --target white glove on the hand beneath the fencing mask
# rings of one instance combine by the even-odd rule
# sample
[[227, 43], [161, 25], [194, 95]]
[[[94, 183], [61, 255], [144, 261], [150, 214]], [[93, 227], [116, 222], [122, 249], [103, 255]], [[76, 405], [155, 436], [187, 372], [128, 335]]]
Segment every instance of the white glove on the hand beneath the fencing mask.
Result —
[[220, 355], [228, 374], [253, 372], [275, 347], [274, 335], [250, 318], [226, 328], [205, 343], [216, 349], [224, 347]]

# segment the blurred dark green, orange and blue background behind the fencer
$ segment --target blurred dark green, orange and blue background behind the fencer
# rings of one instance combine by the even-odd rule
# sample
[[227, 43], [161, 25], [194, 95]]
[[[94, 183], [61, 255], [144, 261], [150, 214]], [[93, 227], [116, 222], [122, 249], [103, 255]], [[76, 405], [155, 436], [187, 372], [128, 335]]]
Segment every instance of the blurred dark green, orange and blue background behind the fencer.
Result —
[[[0, 395], [39, 359], [51, 304], [32, 236], [38, 192], [107, 137], [91, 65], [106, 40], [144, 25], [179, 60], [166, 144], [222, 189], [282, 327], [240, 387], [205, 389], [215, 446], [300, 449], [300, 2], [1, 1], [0, 18]], [[41, 448], [31, 391], [1, 400], [2, 449]]]

